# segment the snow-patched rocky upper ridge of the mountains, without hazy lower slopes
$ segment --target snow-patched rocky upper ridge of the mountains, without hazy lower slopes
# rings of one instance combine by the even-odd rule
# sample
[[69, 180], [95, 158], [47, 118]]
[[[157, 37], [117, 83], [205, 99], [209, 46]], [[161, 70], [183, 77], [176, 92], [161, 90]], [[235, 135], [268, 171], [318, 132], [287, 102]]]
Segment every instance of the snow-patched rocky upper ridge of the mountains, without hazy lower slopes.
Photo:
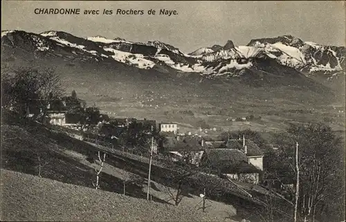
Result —
[[122, 63], [158, 73], [193, 73], [206, 79], [268, 73], [275, 76], [302, 73], [327, 80], [345, 76], [344, 46], [323, 46], [291, 35], [252, 39], [246, 46], [235, 46], [233, 41], [228, 40], [224, 46], [214, 45], [184, 53], [161, 41], [142, 43], [102, 36], [76, 37], [62, 31], [37, 34], [5, 30], [1, 32], [1, 46], [3, 52], [9, 53], [6, 54], [8, 59], [15, 57], [11, 54], [15, 47], [30, 52], [34, 57]]

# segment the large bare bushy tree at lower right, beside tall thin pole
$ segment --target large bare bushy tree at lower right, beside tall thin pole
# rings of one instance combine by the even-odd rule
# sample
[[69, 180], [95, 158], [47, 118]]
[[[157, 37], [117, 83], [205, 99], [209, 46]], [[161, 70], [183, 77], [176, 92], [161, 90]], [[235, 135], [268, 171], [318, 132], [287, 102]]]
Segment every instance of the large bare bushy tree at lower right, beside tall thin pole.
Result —
[[[296, 209], [295, 220], [315, 221], [318, 217], [336, 220], [342, 219], [338, 205], [343, 202], [338, 196], [345, 196], [344, 176], [339, 173], [345, 169], [345, 156], [342, 140], [325, 124], [293, 125], [288, 134], [278, 138], [276, 145], [280, 147], [277, 155], [278, 166], [291, 168], [297, 178], [295, 183]], [[299, 149], [293, 144], [299, 143]], [[295, 158], [292, 156], [295, 155]], [[298, 157], [297, 157], [298, 155]], [[298, 158], [298, 161], [296, 160]], [[298, 178], [299, 176], [299, 178]], [[331, 188], [343, 187], [338, 196], [331, 192]], [[298, 194], [298, 195], [297, 195]], [[338, 204], [335, 201], [340, 201]], [[326, 205], [330, 206], [328, 212]], [[334, 208], [332, 208], [334, 207]]]

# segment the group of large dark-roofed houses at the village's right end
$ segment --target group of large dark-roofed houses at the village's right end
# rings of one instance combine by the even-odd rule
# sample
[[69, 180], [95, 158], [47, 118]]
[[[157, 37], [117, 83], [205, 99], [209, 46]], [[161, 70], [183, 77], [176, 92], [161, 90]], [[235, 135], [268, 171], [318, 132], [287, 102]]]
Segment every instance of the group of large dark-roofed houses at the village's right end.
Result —
[[199, 136], [166, 136], [158, 152], [169, 155], [172, 160], [208, 167], [214, 174], [244, 183], [260, 183], [263, 171], [263, 152], [245, 137], [206, 141]]

